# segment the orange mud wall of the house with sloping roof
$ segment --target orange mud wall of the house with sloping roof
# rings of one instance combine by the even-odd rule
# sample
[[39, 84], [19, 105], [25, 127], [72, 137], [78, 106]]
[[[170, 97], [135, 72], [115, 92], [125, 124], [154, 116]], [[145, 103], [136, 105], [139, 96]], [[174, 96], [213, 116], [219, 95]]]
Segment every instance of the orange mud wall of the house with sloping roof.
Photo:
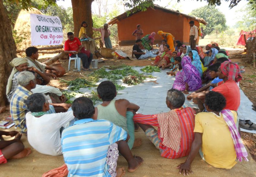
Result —
[[[132, 33], [136, 26], [140, 24], [143, 29], [143, 36], [156, 33], [155, 44], [160, 44], [162, 39], [157, 35], [157, 31], [169, 32], [175, 40], [180, 40], [183, 44], [189, 44], [190, 26], [187, 17], [165, 12], [159, 9], [148, 8], [146, 11], [137, 12], [117, 22], [119, 45], [132, 45], [135, 43], [135, 36]], [[199, 22], [195, 21], [199, 26]]]

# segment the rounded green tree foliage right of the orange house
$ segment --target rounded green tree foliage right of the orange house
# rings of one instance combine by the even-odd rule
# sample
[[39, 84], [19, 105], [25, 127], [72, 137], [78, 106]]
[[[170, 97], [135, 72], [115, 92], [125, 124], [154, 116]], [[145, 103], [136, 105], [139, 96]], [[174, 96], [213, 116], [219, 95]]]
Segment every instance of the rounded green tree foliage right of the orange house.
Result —
[[203, 25], [205, 35], [209, 35], [215, 28], [218, 31], [227, 29], [225, 15], [216, 9], [215, 6], [205, 5], [204, 7], [192, 10], [190, 15], [203, 18], [208, 23], [207, 26]]

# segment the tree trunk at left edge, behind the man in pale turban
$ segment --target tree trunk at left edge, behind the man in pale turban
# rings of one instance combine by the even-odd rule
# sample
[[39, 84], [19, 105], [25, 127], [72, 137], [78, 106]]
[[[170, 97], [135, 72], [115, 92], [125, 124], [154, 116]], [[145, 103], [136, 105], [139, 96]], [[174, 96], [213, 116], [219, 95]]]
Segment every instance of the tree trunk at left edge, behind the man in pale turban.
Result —
[[6, 85], [12, 69], [9, 62], [17, 55], [11, 21], [7, 16], [3, 1], [0, 1], [0, 19], [0, 106], [5, 106], [7, 103]]

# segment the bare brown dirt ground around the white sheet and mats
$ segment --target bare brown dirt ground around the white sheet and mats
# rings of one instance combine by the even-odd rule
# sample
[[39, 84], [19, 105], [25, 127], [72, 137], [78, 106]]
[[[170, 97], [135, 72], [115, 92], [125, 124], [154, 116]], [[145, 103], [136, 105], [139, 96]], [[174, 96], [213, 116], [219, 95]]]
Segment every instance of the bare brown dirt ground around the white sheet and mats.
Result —
[[[208, 41], [207, 41], [208, 42]], [[225, 47], [221, 47], [225, 48]], [[128, 56], [131, 57], [131, 49], [132, 46], [118, 46], [115, 47], [115, 49], [121, 49], [124, 53], [126, 53]], [[243, 50], [241, 49], [234, 49], [234, 48], [227, 48], [229, 52], [229, 56], [231, 57], [232, 61], [239, 62], [239, 66], [244, 66], [245, 72], [242, 73], [243, 79], [240, 81], [240, 87], [244, 91], [245, 95], [250, 99], [250, 101], [253, 104], [256, 104], [256, 69], [251, 67], [251, 65], [242, 62], [241, 58], [232, 59], [232, 57], [236, 57], [238, 54], [241, 54]], [[40, 55], [39, 61], [43, 62], [48, 57], [53, 57], [52, 55]], [[74, 62], [71, 63], [71, 71], [67, 71], [68, 68], [68, 59], [60, 59], [59, 60], [62, 63], [62, 66], [66, 69], [66, 74], [62, 77], [66, 80], [73, 80], [75, 78], [83, 78], [84, 76], [91, 73], [90, 71], [82, 71], [81, 72], [73, 72], [72, 68], [74, 67]], [[115, 66], [115, 65], [129, 65], [129, 66], [146, 66], [151, 65], [150, 60], [138, 60], [138, 61], [132, 61], [128, 59], [116, 59], [116, 58], [110, 58], [110, 59], [104, 59], [104, 62], [99, 63], [98, 68], [102, 66]], [[95, 69], [92, 69], [95, 70]], [[51, 80], [49, 85], [53, 87], [58, 87], [61, 90], [65, 89], [67, 85], [62, 84], [59, 82], [59, 79]], [[8, 106], [6, 107], [6, 111], [0, 114], [0, 120], [6, 118], [8, 115], [10, 115], [10, 110]], [[3, 130], [3, 129], [2, 129]], [[247, 133], [247, 132], [241, 132], [241, 138], [243, 139], [243, 142], [248, 147], [250, 154], [254, 161], [256, 161], [256, 134], [253, 133]]]

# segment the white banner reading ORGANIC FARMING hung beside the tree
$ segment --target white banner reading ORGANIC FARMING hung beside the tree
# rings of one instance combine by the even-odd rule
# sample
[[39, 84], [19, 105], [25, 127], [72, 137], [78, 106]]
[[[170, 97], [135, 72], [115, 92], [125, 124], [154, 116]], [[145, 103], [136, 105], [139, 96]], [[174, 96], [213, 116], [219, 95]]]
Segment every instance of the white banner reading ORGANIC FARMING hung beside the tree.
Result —
[[63, 31], [58, 16], [30, 14], [31, 45], [60, 45], [63, 41]]

